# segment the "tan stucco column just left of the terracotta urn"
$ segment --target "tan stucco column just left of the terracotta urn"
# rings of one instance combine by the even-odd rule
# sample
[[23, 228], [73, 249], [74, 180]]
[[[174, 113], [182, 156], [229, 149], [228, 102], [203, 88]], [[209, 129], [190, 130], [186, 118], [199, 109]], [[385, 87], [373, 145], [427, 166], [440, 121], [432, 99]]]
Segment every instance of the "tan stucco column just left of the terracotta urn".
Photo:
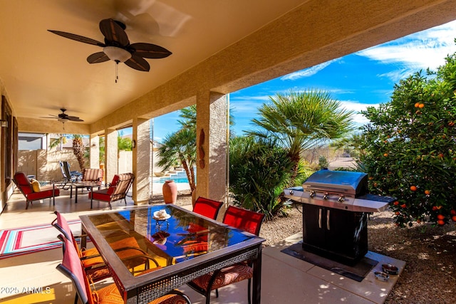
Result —
[[150, 183], [150, 122], [147, 119], [133, 119], [133, 201], [148, 204], [152, 184]]

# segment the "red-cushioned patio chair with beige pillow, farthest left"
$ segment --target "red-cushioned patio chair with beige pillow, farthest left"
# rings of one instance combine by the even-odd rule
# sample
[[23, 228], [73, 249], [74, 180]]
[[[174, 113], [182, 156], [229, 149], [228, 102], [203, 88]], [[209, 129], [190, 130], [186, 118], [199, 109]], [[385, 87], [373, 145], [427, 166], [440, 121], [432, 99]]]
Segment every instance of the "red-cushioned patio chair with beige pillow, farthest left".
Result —
[[52, 204], [55, 205], [56, 196], [60, 195], [60, 190], [55, 189], [53, 185], [41, 186], [38, 181], [33, 181], [32, 186], [30, 179], [28, 179], [24, 172], [16, 172], [13, 182], [26, 198], [26, 209], [28, 209], [28, 204], [33, 204], [33, 201], [47, 198], [52, 198]]

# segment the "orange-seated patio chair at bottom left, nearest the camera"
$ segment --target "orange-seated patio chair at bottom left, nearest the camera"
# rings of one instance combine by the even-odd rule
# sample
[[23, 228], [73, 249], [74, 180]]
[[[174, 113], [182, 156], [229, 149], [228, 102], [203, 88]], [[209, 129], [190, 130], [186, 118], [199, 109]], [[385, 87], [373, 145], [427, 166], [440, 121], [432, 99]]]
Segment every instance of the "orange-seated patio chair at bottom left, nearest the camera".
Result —
[[[92, 289], [90, 284], [90, 277], [87, 276], [86, 270], [83, 268], [79, 261], [78, 252], [74, 248], [70, 240], [66, 239], [63, 235], [59, 235], [58, 239], [63, 242], [63, 259], [62, 263], [56, 267], [58, 271], [68, 277], [76, 288], [75, 303], [78, 303], [78, 298], [81, 299], [83, 304], [111, 304], [111, 303], [124, 303], [122, 295], [115, 285], [111, 283], [98, 290]], [[152, 300], [152, 304], [159, 303], [191, 303], [190, 299], [179, 290], [171, 290], [167, 295]]]

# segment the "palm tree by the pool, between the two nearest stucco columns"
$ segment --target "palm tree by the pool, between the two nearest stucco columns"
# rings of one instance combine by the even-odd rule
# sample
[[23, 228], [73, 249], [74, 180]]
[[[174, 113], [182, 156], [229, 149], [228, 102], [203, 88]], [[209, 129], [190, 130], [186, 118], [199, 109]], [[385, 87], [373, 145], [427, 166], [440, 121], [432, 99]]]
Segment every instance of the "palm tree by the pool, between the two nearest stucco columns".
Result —
[[182, 128], [171, 135], [167, 135], [158, 148], [160, 160], [157, 164], [165, 168], [172, 167], [176, 163], [182, 164], [192, 193], [196, 189], [194, 169], [197, 159], [196, 140], [196, 128]]

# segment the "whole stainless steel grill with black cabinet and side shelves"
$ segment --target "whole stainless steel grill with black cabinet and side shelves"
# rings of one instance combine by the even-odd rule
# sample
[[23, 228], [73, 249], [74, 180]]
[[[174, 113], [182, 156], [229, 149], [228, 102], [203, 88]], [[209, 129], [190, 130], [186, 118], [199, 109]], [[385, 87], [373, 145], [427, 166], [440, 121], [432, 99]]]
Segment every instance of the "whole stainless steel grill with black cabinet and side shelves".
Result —
[[395, 201], [368, 194], [366, 173], [330, 170], [284, 189], [284, 196], [303, 204], [303, 248], [348, 264], [368, 252], [367, 214]]

